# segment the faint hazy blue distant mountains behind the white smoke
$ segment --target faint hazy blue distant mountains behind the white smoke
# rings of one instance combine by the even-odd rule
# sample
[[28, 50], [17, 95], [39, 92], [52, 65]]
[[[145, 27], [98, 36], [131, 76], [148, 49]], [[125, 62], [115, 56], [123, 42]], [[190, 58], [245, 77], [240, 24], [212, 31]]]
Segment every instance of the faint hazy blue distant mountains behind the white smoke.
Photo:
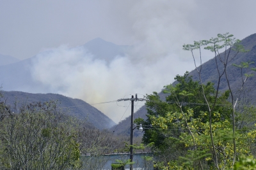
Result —
[[[97, 59], [109, 62], [116, 56], [124, 55], [125, 49], [128, 48], [128, 46], [118, 46], [104, 41], [101, 38], [96, 38], [83, 46], [79, 46], [78, 48], [83, 51], [81, 52], [83, 55], [89, 55], [92, 60]], [[52, 50], [42, 52], [39, 54], [39, 57], [51, 52]], [[60, 57], [62, 57], [62, 54], [60, 54]], [[68, 57], [70, 57], [70, 60], [75, 58], [72, 55]], [[36, 77], [33, 71], [36, 69], [35, 64], [37, 61], [38, 56], [19, 61], [11, 56], [0, 55], [0, 82], [3, 86], [3, 90], [15, 90], [31, 93], [58, 92], [58, 89], [53, 89], [51, 85], [45, 85], [44, 82], [40, 81], [40, 78]], [[79, 67], [78, 69], [81, 70], [83, 67]], [[65, 73], [65, 70], [63, 70], [63, 73]], [[61, 76], [61, 73], [57, 76]]]

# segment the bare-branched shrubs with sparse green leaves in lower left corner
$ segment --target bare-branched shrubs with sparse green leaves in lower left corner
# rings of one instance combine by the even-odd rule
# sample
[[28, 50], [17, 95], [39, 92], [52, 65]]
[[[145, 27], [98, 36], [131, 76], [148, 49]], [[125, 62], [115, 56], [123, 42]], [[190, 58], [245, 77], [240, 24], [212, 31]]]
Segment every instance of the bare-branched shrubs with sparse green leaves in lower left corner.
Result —
[[80, 150], [74, 121], [54, 102], [28, 104], [0, 125], [3, 169], [79, 168]]

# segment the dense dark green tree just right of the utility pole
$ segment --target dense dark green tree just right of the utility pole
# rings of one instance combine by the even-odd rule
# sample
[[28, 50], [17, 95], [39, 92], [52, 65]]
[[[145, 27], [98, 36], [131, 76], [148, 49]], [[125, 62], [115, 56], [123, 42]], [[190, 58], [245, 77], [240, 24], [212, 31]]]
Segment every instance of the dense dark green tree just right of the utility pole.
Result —
[[[198, 81], [193, 81], [188, 72], [184, 76], [177, 75], [175, 77], [177, 81], [175, 86], [168, 85], [165, 87], [164, 92], [170, 93], [170, 96], [166, 97], [166, 101], [161, 101], [156, 92], [147, 96], [147, 110], [148, 119], [145, 122], [141, 122], [145, 129], [143, 136], [143, 143], [154, 142], [154, 150], [159, 153], [159, 160], [168, 162], [170, 160], [177, 160], [177, 157], [185, 157], [188, 153], [186, 143], [180, 140], [182, 132], [189, 131], [190, 136], [194, 138], [195, 132], [191, 127], [191, 118], [201, 118], [202, 123], [206, 123], [209, 120], [209, 114], [207, 113], [207, 105], [204, 104], [204, 96], [202, 92], [202, 86]], [[214, 102], [214, 95], [216, 90], [212, 83], [204, 85], [205, 95], [207, 99]], [[230, 109], [223, 104], [229, 104], [228, 91], [223, 94], [219, 94], [216, 103], [220, 104], [216, 106], [216, 113], [221, 113], [220, 120], [225, 120], [230, 115]], [[193, 108], [193, 115], [184, 113]], [[176, 115], [171, 119], [170, 115]], [[204, 117], [202, 117], [204, 113]], [[214, 115], [214, 118], [217, 115]], [[186, 125], [180, 124], [181, 118], [185, 118]], [[158, 123], [156, 123], [158, 122]], [[194, 147], [197, 148], [196, 141], [194, 139]], [[194, 149], [195, 149], [194, 148]]]

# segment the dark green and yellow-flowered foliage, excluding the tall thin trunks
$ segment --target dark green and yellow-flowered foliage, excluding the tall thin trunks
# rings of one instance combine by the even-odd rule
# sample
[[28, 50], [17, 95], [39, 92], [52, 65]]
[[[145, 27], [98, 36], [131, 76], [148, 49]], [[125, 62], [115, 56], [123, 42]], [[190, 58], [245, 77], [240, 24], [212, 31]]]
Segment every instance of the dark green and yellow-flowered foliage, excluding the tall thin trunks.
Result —
[[[170, 92], [166, 101], [161, 101], [156, 93], [147, 96], [148, 119], [141, 123], [150, 128], [145, 129], [143, 142], [155, 143], [153, 150], [158, 160], [163, 162], [158, 163], [163, 169], [212, 169], [209, 111], [204, 104], [202, 87], [188, 73], [177, 75], [175, 80], [175, 86], [166, 86], [165, 92]], [[212, 83], [204, 85], [204, 89], [211, 105], [216, 90]], [[232, 106], [228, 96], [228, 91], [219, 94], [212, 110], [212, 134], [220, 169], [232, 168]], [[253, 111], [253, 106], [245, 110]], [[244, 128], [236, 131], [237, 155], [252, 154], [256, 128], [253, 120], [249, 119], [243, 117]]]

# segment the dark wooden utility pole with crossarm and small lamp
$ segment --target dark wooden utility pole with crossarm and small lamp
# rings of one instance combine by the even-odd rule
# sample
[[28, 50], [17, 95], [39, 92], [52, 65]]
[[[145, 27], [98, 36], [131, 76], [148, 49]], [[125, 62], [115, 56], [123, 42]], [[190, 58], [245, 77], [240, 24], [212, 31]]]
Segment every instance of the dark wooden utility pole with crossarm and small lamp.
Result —
[[[131, 101], [131, 138], [130, 138], [130, 160], [131, 162], [133, 162], [133, 131], [136, 127], [134, 127], [134, 117], [133, 117], [133, 113], [134, 113], [134, 101], [145, 101], [145, 99], [138, 99], [137, 94], [131, 97], [131, 99], [118, 99], [117, 101]], [[141, 130], [142, 131], [142, 130]], [[133, 170], [133, 164], [130, 164], [130, 170]]]

